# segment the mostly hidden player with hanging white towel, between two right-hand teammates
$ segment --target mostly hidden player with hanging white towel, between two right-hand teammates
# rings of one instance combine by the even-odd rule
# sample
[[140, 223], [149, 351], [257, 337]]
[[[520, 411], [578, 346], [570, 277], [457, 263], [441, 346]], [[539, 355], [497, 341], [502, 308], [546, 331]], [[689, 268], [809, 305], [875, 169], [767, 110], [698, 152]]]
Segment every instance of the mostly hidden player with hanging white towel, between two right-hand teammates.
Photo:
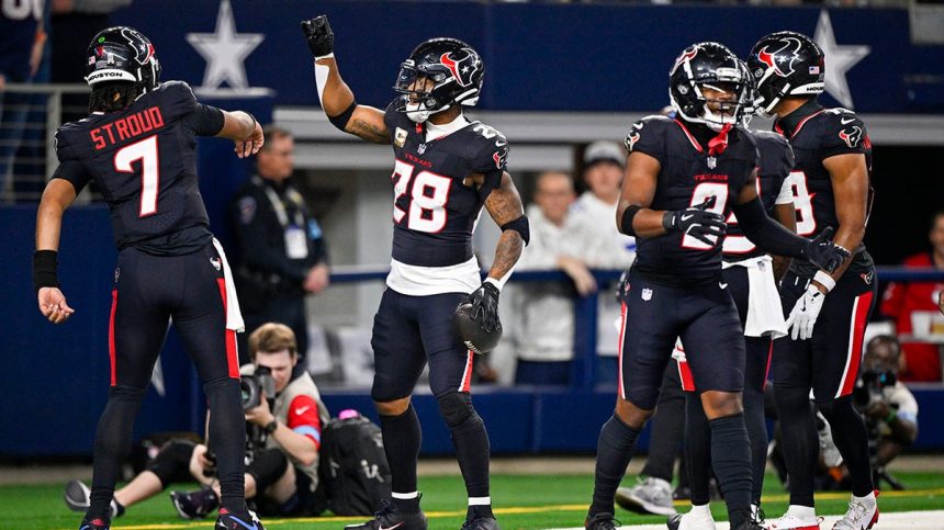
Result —
[[[741, 61], [748, 77], [748, 66]], [[748, 127], [754, 113], [753, 90], [751, 106], [744, 113]], [[794, 150], [779, 134], [771, 131], [751, 131], [761, 155], [757, 169], [757, 193], [767, 214], [791, 232], [796, 229], [794, 194], [789, 174], [794, 168]], [[744, 329], [744, 424], [751, 440], [751, 470], [753, 489], [751, 509], [758, 517], [764, 470], [767, 464], [767, 427], [764, 419], [764, 386], [767, 380], [772, 340], [786, 335], [786, 323], [779, 309], [776, 281], [786, 272], [789, 260], [771, 257], [744, 237], [738, 218], [728, 216], [728, 230], [721, 247], [721, 277], [734, 298], [741, 327]], [[684, 356], [684, 352], [682, 353]], [[679, 361], [683, 388], [686, 390], [685, 451], [692, 486], [692, 510], [670, 519], [672, 530], [709, 530], [715, 519], [709, 509], [709, 481], [711, 478], [711, 433], [705, 416], [699, 391], [694, 387], [687, 362]]]

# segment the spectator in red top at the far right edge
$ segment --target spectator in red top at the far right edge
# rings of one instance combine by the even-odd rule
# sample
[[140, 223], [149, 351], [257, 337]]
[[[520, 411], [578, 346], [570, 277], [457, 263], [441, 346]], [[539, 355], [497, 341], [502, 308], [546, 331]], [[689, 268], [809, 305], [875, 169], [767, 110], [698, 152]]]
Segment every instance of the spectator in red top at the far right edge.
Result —
[[[904, 267], [944, 270], [944, 210], [935, 212], [928, 234], [931, 250], [904, 259]], [[895, 318], [902, 342], [902, 381], [941, 381], [941, 346], [921, 342], [929, 335], [944, 336], [937, 316], [944, 282], [890, 283], [881, 302], [881, 313]]]

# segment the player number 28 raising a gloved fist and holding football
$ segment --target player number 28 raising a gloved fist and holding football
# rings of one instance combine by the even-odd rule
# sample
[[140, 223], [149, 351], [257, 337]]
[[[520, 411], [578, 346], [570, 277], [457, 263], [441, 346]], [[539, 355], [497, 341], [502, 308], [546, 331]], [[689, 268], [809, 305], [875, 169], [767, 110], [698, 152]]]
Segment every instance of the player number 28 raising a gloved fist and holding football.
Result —
[[[427, 362], [469, 494], [462, 528], [498, 528], [488, 493], [488, 436], [470, 395], [473, 352], [451, 331], [453, 309], [470, 302], [484, 331], [497, 332], [498, 293], [528, 241], [521, 200], [505, 170], [505, 136], [463, 113], [479, 100], [485, 66], [462, 41], [426, 41], [403, 63], [395, 81], [400, 95], [381, 111], [358, 104], [341, 80], [327, 18], [305, 21], [302, 29], [330, 122], [363, 139], [392, 144], [394, 153], [393, 256], [371, 340], [377, 370], [371, 396], [381, 417], [393, 501], [373, 520], [350, 528], [426, 528], [416, 480], [419, 421], [409, 397]], [[483, 205], [503, 230], [484, 282], [471, 239]]]

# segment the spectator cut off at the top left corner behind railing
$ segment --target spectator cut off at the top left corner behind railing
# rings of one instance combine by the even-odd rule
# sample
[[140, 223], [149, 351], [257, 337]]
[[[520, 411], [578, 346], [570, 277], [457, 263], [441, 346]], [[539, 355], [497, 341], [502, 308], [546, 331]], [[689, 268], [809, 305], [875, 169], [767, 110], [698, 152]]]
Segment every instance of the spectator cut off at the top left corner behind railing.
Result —
[[33, 82], [40, 70], [46, 43], [43, 8], [43, 2], [0, 2], [0, 194], [10, 180], [33, 100], [31, 94], [4, 89], [8, 83]]

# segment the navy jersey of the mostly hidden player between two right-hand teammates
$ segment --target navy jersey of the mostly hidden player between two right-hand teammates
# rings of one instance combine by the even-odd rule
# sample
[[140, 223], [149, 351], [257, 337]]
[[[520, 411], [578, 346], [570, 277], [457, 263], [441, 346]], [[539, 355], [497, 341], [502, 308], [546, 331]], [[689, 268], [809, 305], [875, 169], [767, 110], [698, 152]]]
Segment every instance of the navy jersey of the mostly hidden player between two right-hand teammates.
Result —
[[[784, 188], [784, 181], [789, 178], [794, 169], [794, 150], [790, 148], [790, 143], [777, 133], [751, 131], [751, 135], [761, 154], [761, 166], [757, 168], [757, 195], [767, 215], [773, 217], [774, 205]], [[728, 233], [724, 235], [722, 252], [724, 261], [731, 262], [766, 253], [744, 236], [733, 212], [728, 216]]]

